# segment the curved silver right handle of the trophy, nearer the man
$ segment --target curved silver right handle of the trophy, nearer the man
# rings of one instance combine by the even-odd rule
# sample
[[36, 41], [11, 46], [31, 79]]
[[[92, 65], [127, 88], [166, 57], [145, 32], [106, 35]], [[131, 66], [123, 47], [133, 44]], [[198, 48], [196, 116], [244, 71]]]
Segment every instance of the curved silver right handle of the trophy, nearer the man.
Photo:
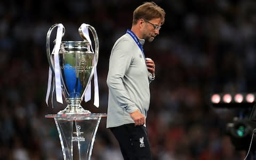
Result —
[[[98, 59], [99, 59], [99, 39], [98, 39], [98, 35], [97, 35], [96, 30], [91, 25], [88, 25], [88, 27], [91, 30], [91, 33], [92, 33], [93, 39], [94, 39], [94, 46], [95, 46], [95, 49], [94, 49], [95, 53], [94, 53], [94, 55], [95, 55], [95, 67], [96, 67], [97, 63], [98, 63]], [[82, 26], [79, 27], [78, 31], [79, 31], [80, 36], [83, 39], [86, 39], [88, 41], [88, 39], [83, 34]]]

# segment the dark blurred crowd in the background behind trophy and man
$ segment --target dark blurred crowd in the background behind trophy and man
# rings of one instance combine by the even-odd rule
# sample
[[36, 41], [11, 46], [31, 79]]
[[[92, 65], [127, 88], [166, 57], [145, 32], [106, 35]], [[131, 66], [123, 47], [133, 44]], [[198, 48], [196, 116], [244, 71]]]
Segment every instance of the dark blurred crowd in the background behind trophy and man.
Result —
[[[150, 84], [147, 118], [154, 160], [238, 160], [225, 133], [232, 113], [215, 111], [209, 94], [255, 92], [256, 1], [154, 1], [166, 12], [160, 35], [146, 43], [146, 57], [156, 63]], [[100, 41], [98, 76], [100, 107], [107, 113], [108, 59], [116, 39], [131, 28], [132, 12], [143, 1], [39, 0], [0, 2], [0, 159], [63, 159], [53, 119], [65, 107], [45, 103], [49, 65], [47, 30], [66, 28], [63, 39], [81, 41], [78, 28], [92, 25]], [[64, 107], [63, 107], [64, 106]], [[255, 144], [254, 144], [255, 145]], [[102, 118], [93, 160], [122, 159], [119, 146]]]

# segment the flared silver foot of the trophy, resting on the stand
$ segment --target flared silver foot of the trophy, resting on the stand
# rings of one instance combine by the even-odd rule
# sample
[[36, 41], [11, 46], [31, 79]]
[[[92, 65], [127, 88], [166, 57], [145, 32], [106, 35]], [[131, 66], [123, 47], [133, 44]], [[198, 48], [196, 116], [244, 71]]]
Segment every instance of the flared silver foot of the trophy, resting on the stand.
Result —
[[66, 114], [66, 115], [90, 115], [91, 111], [85, 110], [82, 106], [70, 106], [68, 105], [65, 109], [59, 111], [58, 115]]

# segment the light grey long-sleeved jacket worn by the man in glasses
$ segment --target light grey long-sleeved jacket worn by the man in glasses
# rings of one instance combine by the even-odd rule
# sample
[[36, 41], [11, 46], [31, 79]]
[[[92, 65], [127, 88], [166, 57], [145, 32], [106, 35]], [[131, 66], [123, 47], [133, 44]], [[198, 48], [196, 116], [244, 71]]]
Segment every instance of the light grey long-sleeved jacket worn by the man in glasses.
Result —
[[[139, 42], [143, 46], [145, 39], [139, 39]], [[111, 51], [107, 76], [107, 128], [134, 123], [130, 113], [137, 109], [147, 117], [152, 80], [134, 39], [129, 34], [117, 39]]]

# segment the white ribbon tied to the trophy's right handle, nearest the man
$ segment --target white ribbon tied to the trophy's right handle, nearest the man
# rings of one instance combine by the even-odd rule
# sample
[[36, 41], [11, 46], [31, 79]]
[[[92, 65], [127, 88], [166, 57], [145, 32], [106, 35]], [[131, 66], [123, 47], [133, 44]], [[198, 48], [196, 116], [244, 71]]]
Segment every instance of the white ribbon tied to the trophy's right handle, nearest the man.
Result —
[[[81, 25], [81, 30], [82, 30], [82, 33], [83, 33], [84, 37], [90, 43], [92, 52], [94, 53], [93, 48], [92, 48], [92, 42], [91, 42], [91, 39], [90, 39], [90, 36], [89, 36], [88, 27], [89, 27], [89, 25], [83, 23]], [[98, 84], [97, 65], [96, 65], [95, 56], [94, 56], [94, 64], [95, 64], [94, 69], [93, 69], [94, 70], [94, 73], [93, 73], [93, 76], [94, 76], [94, 106], [99, 108], [99, 105], [100, 105], [100, 102], [99, 102], [99, 84]], [[85, 91], [84, 100], [85, 100], [85, 102], [91, 100], [91, 81], [89, 82], [89, 84], [87, 86], [87, 89]]]

